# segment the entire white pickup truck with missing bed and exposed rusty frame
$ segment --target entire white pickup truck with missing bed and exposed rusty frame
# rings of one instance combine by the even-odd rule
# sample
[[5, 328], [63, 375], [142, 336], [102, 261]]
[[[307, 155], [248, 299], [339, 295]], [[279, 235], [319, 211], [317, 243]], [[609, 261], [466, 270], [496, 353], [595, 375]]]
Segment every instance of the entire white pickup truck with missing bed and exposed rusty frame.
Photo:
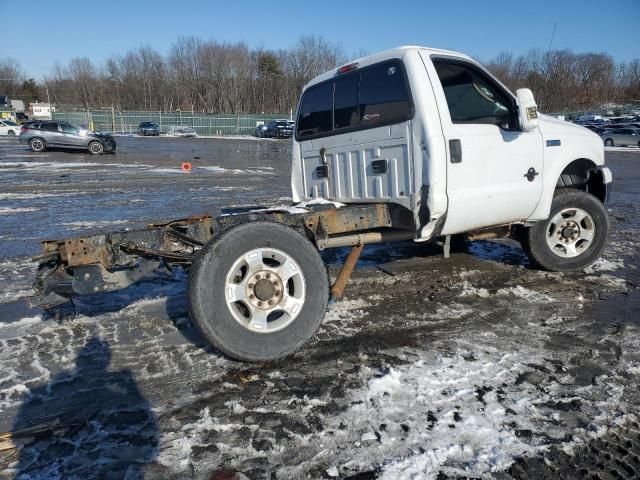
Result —
[[[364, 245], [511, 236], [541, 268], [576, 271], [607, 241], [602, 140], [537, 111], [460, 53], [401, 47], [305, 87], [293, 135], [293, 206], [43, 242], [33, 305], [189, 269], [188, 305], [230, 357], [294, 352], [339, 298]], [[330, 285], [320, 250], [351, 247]]]

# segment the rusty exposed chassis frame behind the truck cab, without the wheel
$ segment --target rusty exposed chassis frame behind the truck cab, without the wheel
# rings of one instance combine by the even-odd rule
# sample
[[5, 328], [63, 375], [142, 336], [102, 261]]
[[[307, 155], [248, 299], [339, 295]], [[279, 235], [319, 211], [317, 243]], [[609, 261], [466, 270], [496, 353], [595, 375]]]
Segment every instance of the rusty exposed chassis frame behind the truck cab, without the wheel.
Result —
[[[310, 205], [290, 213], [239, 209], [218, 217], [192, 217], [139, 230], [42, 242], [31, 306], [51, 308], [76, 295], [118, 290], [164, 266], [188, 268], [198, 250], [237, 225], [271, 221], [303, 233], [319, 250], [413, 238], [411, 212], [395, 204]], [[345, 265], [350, 274], [351, 263]], [[339, 294], [345, 275], [336, 282]], [[348, 276], [346, 276], [348, 278]]]

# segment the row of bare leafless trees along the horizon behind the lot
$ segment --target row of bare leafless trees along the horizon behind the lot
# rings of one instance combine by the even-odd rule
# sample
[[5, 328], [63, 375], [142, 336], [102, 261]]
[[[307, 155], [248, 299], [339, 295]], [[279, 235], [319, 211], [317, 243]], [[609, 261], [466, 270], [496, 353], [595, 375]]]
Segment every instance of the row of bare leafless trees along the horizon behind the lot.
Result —
[[[314, 35], [277, 51], [180, 37], [166, 56], [143, 46], [101, 65], [87, 58], [56, 64], [45, 83], [52, 101], [73, 108], [285, 113], [311, 78], [346, 60], [339, 45]], [[616, 63], [604, 53], [531, 50], [502, 52], [487, 66], [511, 89], [531, 88], [543, 111], [640, 102], [638, 59]], [[8, 95], [19, 94], [25, 80], [12, 59], [0, 59], [0, 79], [0, 94]], [[32, 96], [34, 85], [27, 88]]]

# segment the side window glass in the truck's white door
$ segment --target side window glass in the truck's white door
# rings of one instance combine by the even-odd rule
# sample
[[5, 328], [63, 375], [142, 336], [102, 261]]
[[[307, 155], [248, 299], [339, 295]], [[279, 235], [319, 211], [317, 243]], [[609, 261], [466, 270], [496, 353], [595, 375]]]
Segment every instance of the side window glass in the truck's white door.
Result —
[[435, 58], [433, 64], [453, 123], [517, 128], [514, 100], [481, 69], [459, 60]]

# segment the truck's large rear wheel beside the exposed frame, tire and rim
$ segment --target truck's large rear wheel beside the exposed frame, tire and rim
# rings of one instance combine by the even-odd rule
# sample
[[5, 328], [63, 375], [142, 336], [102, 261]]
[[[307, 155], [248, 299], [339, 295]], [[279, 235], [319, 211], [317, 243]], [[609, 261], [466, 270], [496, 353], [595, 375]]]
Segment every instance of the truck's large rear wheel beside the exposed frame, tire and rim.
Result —
[[277, 223], [229, 230], [199, 252], [189, 273], [194, 323], [216, 348], [242, 361], [293, 353], [322, 323], [328, 299], [316, 248]]

